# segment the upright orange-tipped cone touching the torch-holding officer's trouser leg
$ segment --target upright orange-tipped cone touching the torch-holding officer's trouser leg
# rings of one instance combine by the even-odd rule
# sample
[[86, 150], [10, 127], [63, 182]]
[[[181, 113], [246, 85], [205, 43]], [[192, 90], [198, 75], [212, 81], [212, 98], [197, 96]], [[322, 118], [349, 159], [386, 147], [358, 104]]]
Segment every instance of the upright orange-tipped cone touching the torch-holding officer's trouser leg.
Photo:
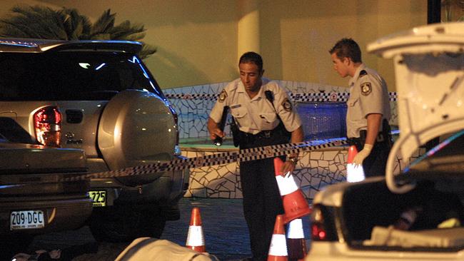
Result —
[[276, 224], [269, 246], [268, 261], [287, 261], [287, 242], [283, 229], [283, 215], [276, 216]]

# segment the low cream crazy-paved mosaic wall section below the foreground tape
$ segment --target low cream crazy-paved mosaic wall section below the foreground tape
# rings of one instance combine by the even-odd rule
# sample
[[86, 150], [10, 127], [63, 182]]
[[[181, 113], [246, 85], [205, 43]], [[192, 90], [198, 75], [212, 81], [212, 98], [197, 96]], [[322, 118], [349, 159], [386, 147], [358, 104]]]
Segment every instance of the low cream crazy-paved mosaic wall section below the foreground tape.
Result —
[[[236, 149], [230, 149], [236, 150]], [[223, 153], [227, 149], [182, 148], [183, 155], [191, 158]], [[418, 158], [424, 151], [418, 151], [411, 160]], [[293, 172], [296, 183], [306, 198], [313, 200], [314, 195], [326, 185], [346, 181], [346, 147], [334, 147], [324, 150], [300, 153], [300, 160]], [[403, 160], [398, 158], [395, 172], [404, 168]], [[229, 163], [203, 168], [192, 168], [190, 186], [186, 197], [198, 198], [242, 198], [239, 164]]]

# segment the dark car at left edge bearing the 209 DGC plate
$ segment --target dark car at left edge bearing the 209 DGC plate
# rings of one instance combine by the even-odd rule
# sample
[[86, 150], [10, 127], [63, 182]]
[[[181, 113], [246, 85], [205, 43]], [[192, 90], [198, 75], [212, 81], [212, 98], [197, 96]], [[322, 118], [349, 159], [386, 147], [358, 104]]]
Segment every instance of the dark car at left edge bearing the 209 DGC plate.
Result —
[[[0, 117], [0, 260], [27, 247], [34, 235], [76, 229], [92, 212], [83, 150], [12, 143], [1, 133], [28, 135]], [[11, 259], [9, 259], [11, 260]]]

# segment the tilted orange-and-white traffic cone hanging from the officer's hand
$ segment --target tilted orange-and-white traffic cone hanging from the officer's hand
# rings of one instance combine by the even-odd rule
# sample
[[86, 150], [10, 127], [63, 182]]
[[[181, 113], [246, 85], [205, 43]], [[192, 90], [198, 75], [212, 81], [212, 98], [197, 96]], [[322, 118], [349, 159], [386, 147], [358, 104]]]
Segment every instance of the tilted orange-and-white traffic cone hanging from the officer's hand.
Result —
[[274, 169], [276, 172], [276, 180], [278, 190], [281, 192], [283, 210], [285, 210], [284, 221], [286, 223], [296, 218], [301, 218], [303, 215], [311, 214], [308, 201], [306, 201], [303, 192], [295, 183], [293, 175], [286, 174], [286, 177], [281, 173], [283, 161], [281, 158], [274, 158]]

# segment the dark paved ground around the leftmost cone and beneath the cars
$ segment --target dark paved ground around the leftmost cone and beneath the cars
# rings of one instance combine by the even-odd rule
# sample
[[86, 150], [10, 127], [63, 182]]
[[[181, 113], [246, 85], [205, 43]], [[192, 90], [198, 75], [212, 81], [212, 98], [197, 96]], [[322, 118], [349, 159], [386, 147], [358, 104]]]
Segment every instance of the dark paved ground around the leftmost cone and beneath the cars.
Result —
[[[218, 260], [241, 260], [251, 257], [248, 228], [243, 218], [241, 199], [183, 198], [179, 202], [181, 218], [166, 222], [161, 239], [185, 245], [191, 210], [198, 207], [203, 221], [206, 252], [218, 257]], [[303, 218], [305, 237], [309, 237], [308, 217]], [[114, 260], [126, 248], [128, 243], [96, 242], [89, 227], [39, 235], [21, 252], [34, 253], [36, 250], [62, 251], [64, 260], [93, 261]]]

